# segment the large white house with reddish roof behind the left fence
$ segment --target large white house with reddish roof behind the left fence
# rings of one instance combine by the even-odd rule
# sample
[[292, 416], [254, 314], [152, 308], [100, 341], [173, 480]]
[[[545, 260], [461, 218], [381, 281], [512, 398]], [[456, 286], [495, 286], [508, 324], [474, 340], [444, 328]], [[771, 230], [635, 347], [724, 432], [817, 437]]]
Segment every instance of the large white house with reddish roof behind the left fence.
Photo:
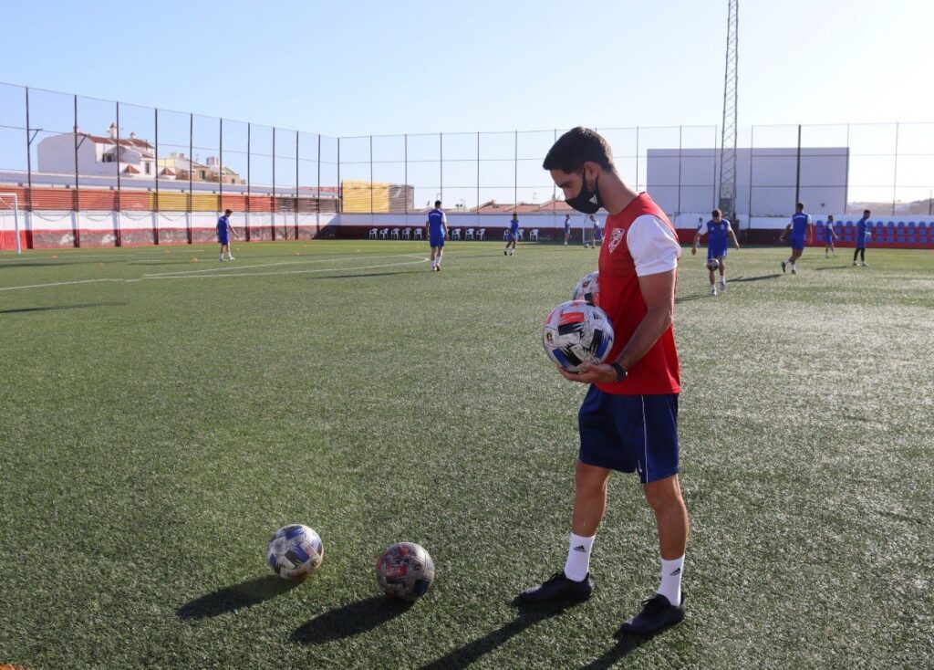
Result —
[[76, 128], [74, 133], [51, 135], [36, 147], [38, 171], [50, 174], [75, 174], [76, 146], [78, 174], [94, 177], [176, 178], [173, 170], [156, 164], [156, 148], [135, 133], [117, 136], [117, 124], [111, 123], [107, 135], [88, 135]]

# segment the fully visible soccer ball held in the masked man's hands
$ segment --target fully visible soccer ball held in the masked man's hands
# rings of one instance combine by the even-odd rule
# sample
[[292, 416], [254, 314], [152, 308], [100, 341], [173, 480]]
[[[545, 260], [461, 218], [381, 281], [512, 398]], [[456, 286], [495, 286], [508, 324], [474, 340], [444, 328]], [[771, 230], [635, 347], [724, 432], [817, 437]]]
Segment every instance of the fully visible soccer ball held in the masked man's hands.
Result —
[[584, 300], [569, 300], [555, 307], [542, 329], [542, 346], [555, 363], [568, 372], [580, 365], [598, 365], [613, 349], [613, 324], [603, 310]]

